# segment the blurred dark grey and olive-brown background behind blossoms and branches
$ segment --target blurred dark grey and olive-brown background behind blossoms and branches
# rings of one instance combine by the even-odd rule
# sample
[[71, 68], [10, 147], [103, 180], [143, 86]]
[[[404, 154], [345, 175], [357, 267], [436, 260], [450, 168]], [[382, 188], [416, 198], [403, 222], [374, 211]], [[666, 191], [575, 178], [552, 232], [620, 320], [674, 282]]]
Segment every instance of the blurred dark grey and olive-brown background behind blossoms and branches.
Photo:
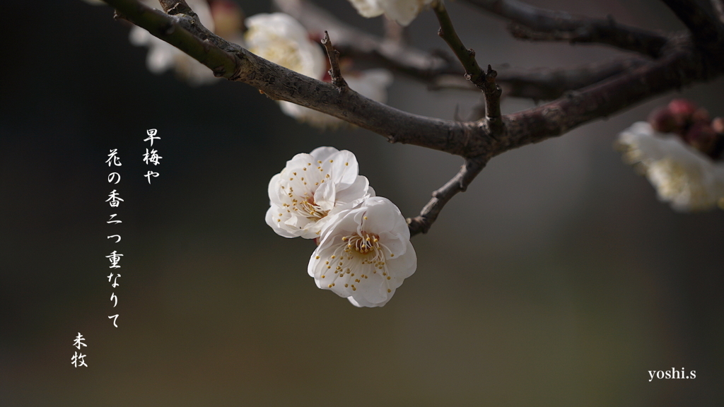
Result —
[[[271, 10], [239, 3], [248, 15]], [[484, 64], [620, 55], [515, 41], [505, 22], [448, 3]], [[654, 0], [531, 3], [682, 28]], [[319, 4], [382, 30], [348, 1]], [[459, 157], [365, 130], [321, 132], [240, 83], [153, 75], [108, 7], [11, 1], [3, 12], [0, 405], [723, 405], [724, 213], [675, 213], [612, 147], [673, 97], [724, 114], [722, 80], [493, 159], [413, 238], [418, 269], [395, 298], [356, 309], [308, 277], [313, 243], [264, 223], [269, 178], [299, 152], [346, 148], [377, 193], [413, 216]], [[431, 12], [410, 28], [426, 50], [445, 48], [436, 32]], [[452, 119], [476, 101], [395, 75], [389, 103]], [[503, 109], [530, 106], [507, 99]], [[163, 156], [151, 185], [148, 128]], [[123, 164], [113, 186], [111, 148]], [[105, 202], [114, 188], [125, 199], [117, 210]], [[107, 225], [114, 213], [123, 223]], [[124, 255], [116, 289], [105, 258], [114, 250]], [[77, 332], [88, 368], [70, 364]], [[649, 370], [672, 368], [696, 379], [649, 382]]]

